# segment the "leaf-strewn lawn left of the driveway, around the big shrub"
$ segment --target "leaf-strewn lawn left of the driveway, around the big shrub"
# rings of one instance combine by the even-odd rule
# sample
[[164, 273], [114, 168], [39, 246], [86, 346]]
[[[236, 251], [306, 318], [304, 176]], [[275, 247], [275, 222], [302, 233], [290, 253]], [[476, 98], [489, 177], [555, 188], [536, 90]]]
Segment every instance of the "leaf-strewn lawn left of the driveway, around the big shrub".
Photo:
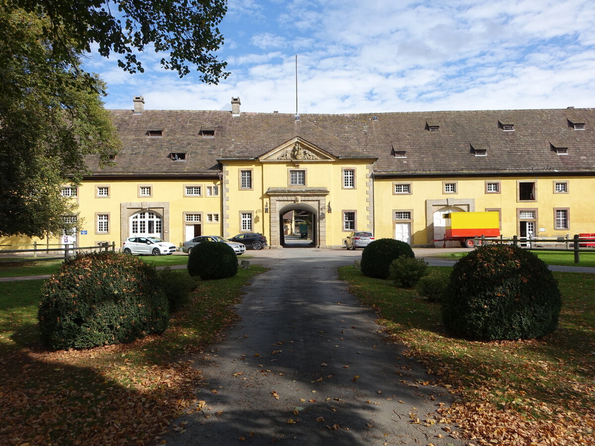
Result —
[[[176, 256], [186, 260], [186, 256]], [[156, 257], [154, 259], [176, 258]], [[195, 363], [230, 323], [258, 266], [228, 279], [198, 281], [163, 335], [90, 350], [40, 347], [41, 280], [0, 282], [0, 431], [7, 444], [156, 444], [181, 413], [201, 410]], [[187, 275], [186, 269], [176, 274]]]

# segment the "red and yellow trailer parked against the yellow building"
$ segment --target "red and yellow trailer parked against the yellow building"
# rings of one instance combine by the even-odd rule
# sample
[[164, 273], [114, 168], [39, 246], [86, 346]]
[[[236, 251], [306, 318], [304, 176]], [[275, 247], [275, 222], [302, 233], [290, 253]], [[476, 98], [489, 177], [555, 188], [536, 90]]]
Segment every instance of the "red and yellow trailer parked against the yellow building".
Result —
[[446, 218], [446, 240], [459, 240], [461, 246], [472, 248], [475, 237], [498, 237], [500, 218], [498, 212], [451, 212]]

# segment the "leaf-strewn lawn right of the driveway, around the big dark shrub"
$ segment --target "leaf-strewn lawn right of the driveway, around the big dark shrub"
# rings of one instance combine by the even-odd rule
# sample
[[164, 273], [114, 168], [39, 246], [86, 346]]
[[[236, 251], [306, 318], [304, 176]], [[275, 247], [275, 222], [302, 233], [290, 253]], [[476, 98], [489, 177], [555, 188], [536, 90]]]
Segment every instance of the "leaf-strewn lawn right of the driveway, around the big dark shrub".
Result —
[[516, 444], [513, 435], [519, 432], [539, 440], [560, 436], [555, 444], [582, 444], [581, 435], [585, 444], [595, 442], [595, 275], [553, 273], [563, 296], [555, 333], [537, 340], [478, 342], [450, 337], [440, 323], [439, 304], [415, 290], [365, 277], [352, 266], [339, 274], [352, 293], [377, 310], [381, 325], [409, 347], [410, 356], [462, 395], [443, 414], [467, 435], [496, 444]]

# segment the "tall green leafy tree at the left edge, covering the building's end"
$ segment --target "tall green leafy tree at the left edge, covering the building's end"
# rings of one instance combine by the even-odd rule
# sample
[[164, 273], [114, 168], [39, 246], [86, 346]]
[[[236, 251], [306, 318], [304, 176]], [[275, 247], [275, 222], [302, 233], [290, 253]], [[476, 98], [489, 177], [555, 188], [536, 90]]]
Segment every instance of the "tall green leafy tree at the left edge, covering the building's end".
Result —
[[55, 58], [46, 27], [37, 14], [0, 4], [1, 235], [42, 237], [73, 227], [64, 217], [76, 204], [61, 186], [79, 184], [85, 156], [98, 154], [106, 164], [120, 146], [98, 93], [104, 84], [79, 76], [75, 45], [67, 60]]

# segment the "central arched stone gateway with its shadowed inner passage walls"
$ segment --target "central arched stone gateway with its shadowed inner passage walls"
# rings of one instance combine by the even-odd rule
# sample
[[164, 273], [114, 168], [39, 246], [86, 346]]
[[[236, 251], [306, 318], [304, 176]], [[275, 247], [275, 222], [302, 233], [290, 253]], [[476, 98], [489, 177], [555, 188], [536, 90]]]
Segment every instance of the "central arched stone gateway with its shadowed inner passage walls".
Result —
[[312, 241], [314, 246], [327, 244], [327, 195], [324, 187], [303, 187], [289, 189], [270, 187], [267, 194], [271, 200], [271, 247], [283, 243], [283, 215], [289, 211], [302, 210], [312, 214]]

